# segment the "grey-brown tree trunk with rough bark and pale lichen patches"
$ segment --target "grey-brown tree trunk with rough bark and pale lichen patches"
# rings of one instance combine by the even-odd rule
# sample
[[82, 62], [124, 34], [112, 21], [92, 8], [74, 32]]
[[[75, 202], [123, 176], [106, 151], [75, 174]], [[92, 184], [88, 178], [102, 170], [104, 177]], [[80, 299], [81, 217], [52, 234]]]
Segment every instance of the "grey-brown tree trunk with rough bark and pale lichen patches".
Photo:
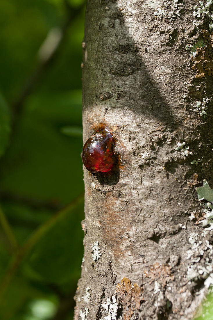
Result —
[[194, 6], [88, 1], [83, 138], [105, 126], [119, 159], [84, 168], [75, 320], [191, 319], [208, 291], [213, 198], [195, 187], [213, 186], [213, 39], [211, 4]]

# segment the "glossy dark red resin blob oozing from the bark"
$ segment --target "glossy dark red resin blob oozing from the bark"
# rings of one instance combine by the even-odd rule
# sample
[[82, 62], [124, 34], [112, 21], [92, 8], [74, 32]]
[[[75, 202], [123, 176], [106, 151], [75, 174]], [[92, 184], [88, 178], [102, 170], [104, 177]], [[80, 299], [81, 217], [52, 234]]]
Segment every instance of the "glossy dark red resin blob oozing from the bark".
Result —
[[82, 160], [86, 169], [91, 172], [110, 171], [117, 162], [113, 148], [113, 135], [107, 129], [93, 134], [83, 146]]

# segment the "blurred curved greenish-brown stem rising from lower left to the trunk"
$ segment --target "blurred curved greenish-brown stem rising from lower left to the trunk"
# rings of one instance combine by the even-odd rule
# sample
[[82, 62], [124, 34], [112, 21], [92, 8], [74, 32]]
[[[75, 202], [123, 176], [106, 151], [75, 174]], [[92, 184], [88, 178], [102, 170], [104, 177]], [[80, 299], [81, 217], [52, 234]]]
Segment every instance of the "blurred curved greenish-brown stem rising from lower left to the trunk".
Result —
[[3, 296], [13, 278], [16, 271], [20, 267], [20, 264], [35, 246], [35, 244], [57, 223], [63, 219], [69, 212], [74, 210], [79, 204], [83, 203], [83, 195], [78, 196], [74, 201], [68, 204], [65, 208], [56, 212], [49, 220], [44, 222], [38, 227], [35, 232], [29, 237], [29, 239], [20, 247], [20, 249], [14, 254], [9, 264], [9, 267], [4, 275], [2, 283], [0, 285], [0, 306], [2, 304]]

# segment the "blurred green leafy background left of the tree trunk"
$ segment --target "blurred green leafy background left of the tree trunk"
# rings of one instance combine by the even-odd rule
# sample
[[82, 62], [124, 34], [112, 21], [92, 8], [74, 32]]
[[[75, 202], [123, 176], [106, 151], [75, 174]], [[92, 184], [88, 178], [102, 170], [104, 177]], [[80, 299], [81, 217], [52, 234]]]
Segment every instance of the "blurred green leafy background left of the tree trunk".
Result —
[[84, 0], [0, 1], [0, 319], [73, 319]]

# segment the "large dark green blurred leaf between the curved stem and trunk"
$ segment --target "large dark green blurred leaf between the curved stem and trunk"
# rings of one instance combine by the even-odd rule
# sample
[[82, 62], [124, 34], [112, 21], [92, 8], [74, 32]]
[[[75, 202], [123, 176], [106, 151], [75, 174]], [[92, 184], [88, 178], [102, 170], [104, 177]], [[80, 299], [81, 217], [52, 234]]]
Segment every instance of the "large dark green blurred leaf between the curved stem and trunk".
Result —
[[82, 244], [79, 219], [83, 220], [82, 212], [83, 205], [55, 225], [32, 251], [29, 267], [46, 281], [54, 284], [66, 284], [70, 280], [76, 282], [83, 258], [79, 255], [79, 244]]

